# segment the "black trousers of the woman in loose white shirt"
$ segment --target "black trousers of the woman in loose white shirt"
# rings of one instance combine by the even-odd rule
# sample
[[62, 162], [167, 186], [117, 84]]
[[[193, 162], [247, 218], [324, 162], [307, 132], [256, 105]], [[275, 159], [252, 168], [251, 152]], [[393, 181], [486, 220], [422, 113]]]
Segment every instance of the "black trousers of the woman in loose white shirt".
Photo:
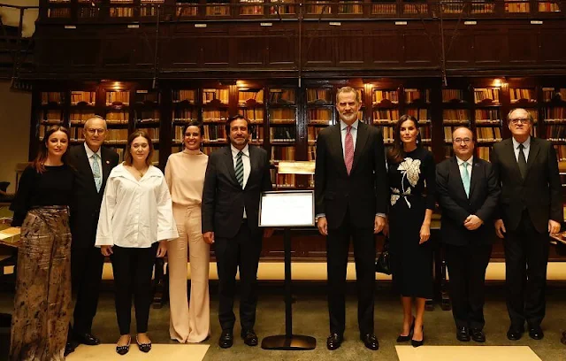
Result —
[[135, 325], [138, 334], [148, 332], [151, 305], [151, 274], [157, 255], [158, 242], [150, 248], [112, 247], [116, 317], [120, 334], [130, 334], [132, 296], [134, 296]]

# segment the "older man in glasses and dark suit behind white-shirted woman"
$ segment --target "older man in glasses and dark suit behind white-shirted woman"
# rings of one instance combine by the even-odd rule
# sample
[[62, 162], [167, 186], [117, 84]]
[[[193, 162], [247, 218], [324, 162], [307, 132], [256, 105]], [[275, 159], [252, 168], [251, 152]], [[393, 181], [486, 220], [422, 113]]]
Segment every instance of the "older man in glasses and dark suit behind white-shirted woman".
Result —
[[100, 343], [91, 331], [104, 263], [103, 255], [95, 247], [96, 226], [106, 180], [119, 162], [118, 154], [103, 146], [106, 133], [103, 118], [87, 119], [82, 130], [84, 144], [68, 151], [68, 162], [75, 172], [70, 221], [71, 275], [76, 303], [65, 354], [73, 352], [80, 343], [90, 346]]

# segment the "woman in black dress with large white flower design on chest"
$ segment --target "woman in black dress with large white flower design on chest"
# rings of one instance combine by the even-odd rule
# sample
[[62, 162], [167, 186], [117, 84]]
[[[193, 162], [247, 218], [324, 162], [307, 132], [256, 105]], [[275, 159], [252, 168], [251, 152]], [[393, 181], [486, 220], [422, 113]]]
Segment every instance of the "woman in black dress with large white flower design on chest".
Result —
[[432, 298], [432, 250], [427, 241], [435, 202], [434, 174], [432, 153], [420, 146], [417, 119], [403, 115], [387, 153], [388, 232], [393, 283], [403, 307], [403, 330], [397, 342], [411, 340], [414, 347], [423, 344], [424, 303]]

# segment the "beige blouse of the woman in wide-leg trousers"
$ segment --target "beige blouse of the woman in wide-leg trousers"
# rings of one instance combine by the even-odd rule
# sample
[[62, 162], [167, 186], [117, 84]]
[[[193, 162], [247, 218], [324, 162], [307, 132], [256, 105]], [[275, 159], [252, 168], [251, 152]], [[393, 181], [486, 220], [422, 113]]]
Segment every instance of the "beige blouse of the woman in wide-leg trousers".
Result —
[[201, 205], [208, 162], [209, 156], [206, 154], [188, 154], [187, 150], [169, 156], [165, 165], [165, 180], [173, 205]]

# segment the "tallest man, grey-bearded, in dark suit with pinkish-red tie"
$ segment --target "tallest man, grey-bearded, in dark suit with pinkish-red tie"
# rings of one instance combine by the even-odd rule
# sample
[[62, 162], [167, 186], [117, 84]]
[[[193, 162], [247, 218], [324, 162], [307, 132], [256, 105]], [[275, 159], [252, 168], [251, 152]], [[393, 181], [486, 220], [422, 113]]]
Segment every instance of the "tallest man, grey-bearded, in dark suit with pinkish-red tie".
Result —
[[379, 128], [357, 119], [362, 102], [356, 89], [336, 93], [340, 123], [318, 134], [315, 170], [317, 227], [326, 235], [328, 268], [328, 349], [338, 349], [346, 327], [346, 270], [350, 239], [356, 258], [357, 319], [360, 339], [379, 349], [373, 331], [375, 238], [385, 226], [386, 165]]

